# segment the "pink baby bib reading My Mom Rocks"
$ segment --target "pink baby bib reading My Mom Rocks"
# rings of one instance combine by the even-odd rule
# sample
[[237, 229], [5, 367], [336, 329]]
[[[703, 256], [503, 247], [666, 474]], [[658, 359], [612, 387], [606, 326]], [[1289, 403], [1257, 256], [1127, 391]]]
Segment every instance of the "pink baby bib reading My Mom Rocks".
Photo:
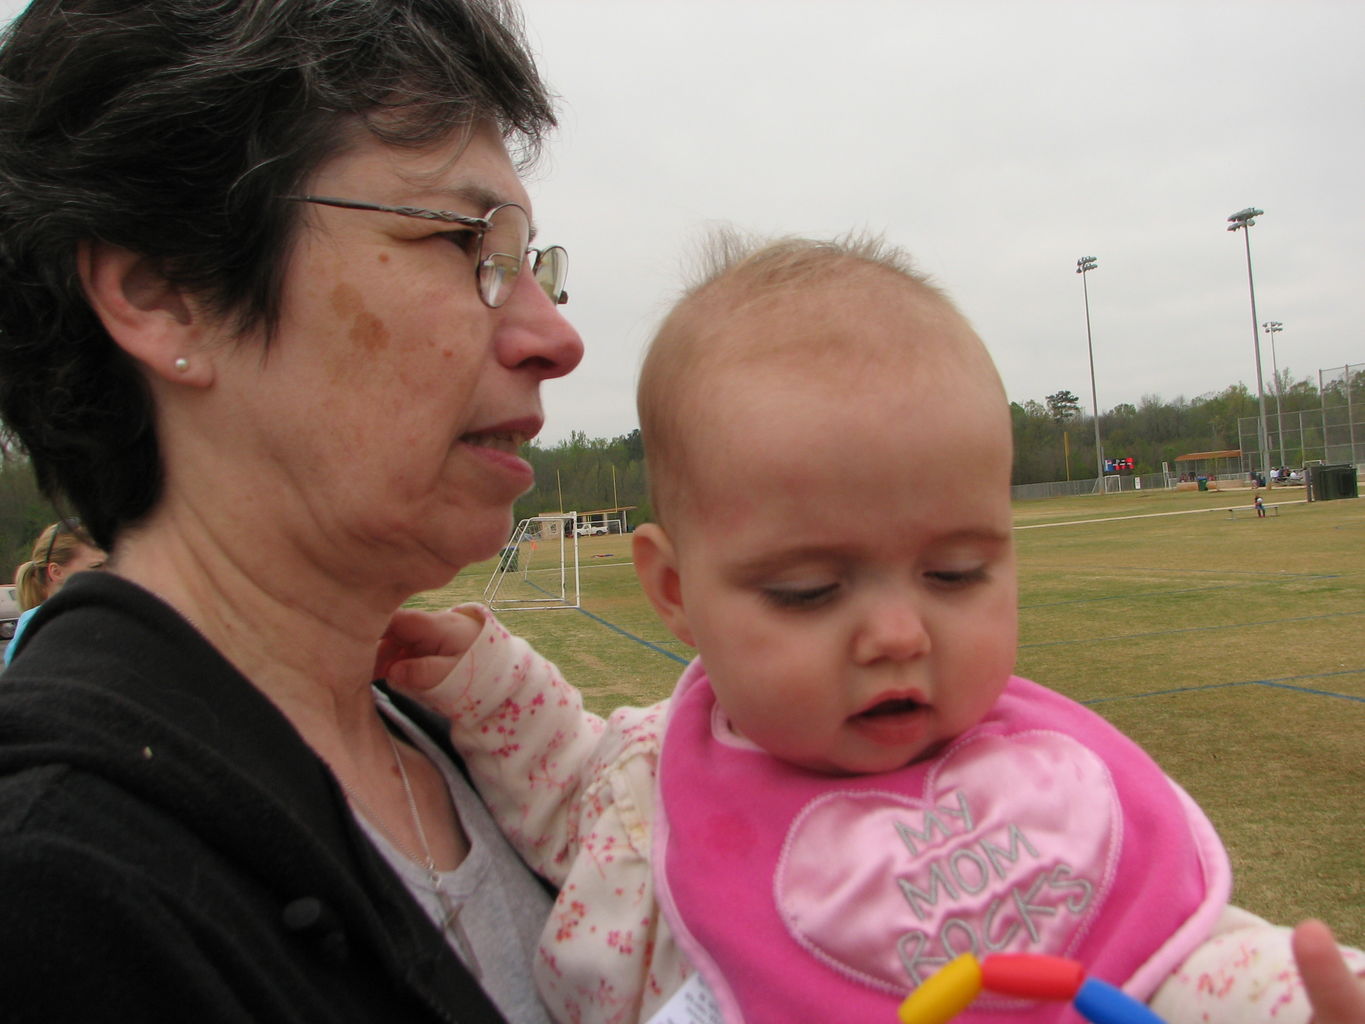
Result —
[[[1051, 953], [1147, 999], [1227, 901], [1198, 807], [1099, 715], [1014, 677], [936, 758], [793, 767], [730, 736], [700, 662], [659, 755], [655, 875], [728, 1021], [894, 1021], [958, 953]], [[960, 1020], [1078, 1020], [977, 999]]]

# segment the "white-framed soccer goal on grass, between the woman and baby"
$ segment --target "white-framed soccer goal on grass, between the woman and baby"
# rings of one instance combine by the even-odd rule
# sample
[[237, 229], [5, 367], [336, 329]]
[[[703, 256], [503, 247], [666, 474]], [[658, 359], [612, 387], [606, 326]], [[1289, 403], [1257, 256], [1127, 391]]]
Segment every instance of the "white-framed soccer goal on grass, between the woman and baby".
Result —
[[531, 516], [502, 546], [483, 603], [494, 612], [579, 606], [576, 512]]

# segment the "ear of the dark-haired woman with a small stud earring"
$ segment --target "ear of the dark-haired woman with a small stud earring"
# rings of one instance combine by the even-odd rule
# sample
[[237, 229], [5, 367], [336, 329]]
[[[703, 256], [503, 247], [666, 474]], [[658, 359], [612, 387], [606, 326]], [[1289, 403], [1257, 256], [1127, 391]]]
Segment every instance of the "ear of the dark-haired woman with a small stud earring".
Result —
[[150, 373], [205, 386], [213, 371], [201, 344], [206, 324], [180, 285], [147, 257], [106, 242], [76, 246], [81, 285], [109, 337]]

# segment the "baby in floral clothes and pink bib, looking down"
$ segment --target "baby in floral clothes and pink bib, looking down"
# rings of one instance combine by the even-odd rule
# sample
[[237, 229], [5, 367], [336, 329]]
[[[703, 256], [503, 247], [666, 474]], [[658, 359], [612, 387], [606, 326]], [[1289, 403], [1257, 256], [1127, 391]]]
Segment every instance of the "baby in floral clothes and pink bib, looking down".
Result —
[[1072, 957], [1173, 1021], [1308, 1019], [1289, 934], [1227, 907], [1198, 807], [1011, 676], [1009, 406], [902, 255], [723, 239], [639, 410], [636, 572], [700, 655], [669, 700], [591, 715], [472, 606], [400, 614], [381, 654], [561, 886], [536, 965], [556, 1020], [891, 1024], [962, 952]]

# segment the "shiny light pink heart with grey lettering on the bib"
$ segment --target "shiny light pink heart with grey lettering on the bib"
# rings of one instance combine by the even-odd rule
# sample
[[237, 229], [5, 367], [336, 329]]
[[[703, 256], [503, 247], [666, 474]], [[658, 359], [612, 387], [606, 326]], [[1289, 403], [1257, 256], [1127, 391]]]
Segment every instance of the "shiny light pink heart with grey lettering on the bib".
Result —
[[1122, 829], [1108, 769], [1078, 741], [975, 736], [917, 796], [841, 789], [807, 804], [773, 893], [811, 953], [905, 993], [960, 953], [1069, 956], [1108, 896]]

